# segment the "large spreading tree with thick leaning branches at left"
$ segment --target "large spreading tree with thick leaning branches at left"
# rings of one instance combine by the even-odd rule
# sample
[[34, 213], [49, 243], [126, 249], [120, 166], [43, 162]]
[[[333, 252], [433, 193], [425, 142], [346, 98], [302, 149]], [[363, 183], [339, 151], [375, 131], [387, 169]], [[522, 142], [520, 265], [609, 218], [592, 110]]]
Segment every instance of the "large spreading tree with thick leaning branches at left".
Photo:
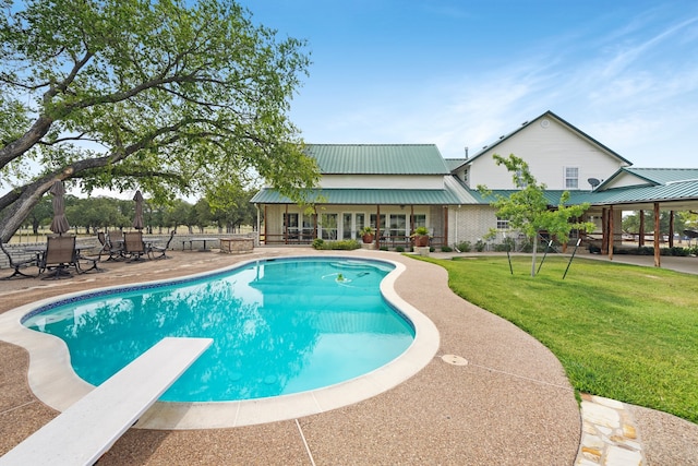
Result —
[[0, 175], [16, 179], [0, 239], [56, 179], [156, 202], [257, 177], [300, 200], [317, 181], [287, 118], [305, 43], [253, 25], [233, 0], [0, 7]]

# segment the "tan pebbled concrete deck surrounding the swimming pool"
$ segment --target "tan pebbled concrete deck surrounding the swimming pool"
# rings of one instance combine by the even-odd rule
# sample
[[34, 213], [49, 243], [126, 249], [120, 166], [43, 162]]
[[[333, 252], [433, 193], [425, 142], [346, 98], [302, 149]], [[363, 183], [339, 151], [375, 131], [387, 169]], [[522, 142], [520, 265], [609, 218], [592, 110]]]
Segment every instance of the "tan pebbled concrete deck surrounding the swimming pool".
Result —
[[[340, 253], [266, 247], [243, 255], [174, 251], [173, 259], [165, 261], [104, 263], [106, 273], [67, 280], [0, 282], [0, 312], [71, 291], [299, 254]], [[545, 347], [455, 296], [446, 272], [436, 265], [390, 252], [345, 254], [406, 265], [395, 289], [434, 322], [441, 337], [438, 351], [422, 371], [369, 399], [286, 421], [205, 430], [130, 429], [99, 464], [575, 464], [580, 410], [562, 366]], [[462, 359], [443, 358], [448, 355]], [[0, 342], [0, 356], [3, 454], [58, 413], [29, 391], [24, 349]], [[450, 363], [461, 360], [467, 365]], [[698, 426], [625, 406], [635, 416], [649, 464], [698, 464]]]

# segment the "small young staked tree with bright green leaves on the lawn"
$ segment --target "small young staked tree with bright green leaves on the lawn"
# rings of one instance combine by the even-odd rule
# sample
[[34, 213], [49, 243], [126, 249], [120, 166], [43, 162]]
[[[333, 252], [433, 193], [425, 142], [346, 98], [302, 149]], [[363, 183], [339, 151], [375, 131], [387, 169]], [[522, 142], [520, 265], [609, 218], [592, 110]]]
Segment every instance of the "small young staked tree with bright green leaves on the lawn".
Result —
[[[562, 243], [566, 243], [573, 229], [593, 231], [593, 223], [578, 220], [589, 208], [589, 204], [566, 205], [569, 201], [569, 192], [565, 191], [559, 198], [557, 207], [551, 208], [545, 196], [545, 184], [538, 183], [522, 158], [514, 154], [507, 158], [497, 154], [492, 157], [497, 166], [506, 167], [512, 174], [514, 184], [518, 188], [508, 198], [494, 194], [496, 201], [492, 205], [496, 208], [497, 217], [507, 219], [512, 229], [522, 232], [533, 242], [531, 276], [535, 276], [538, 234], [547, 231]], [[478, 187], [478, 189], [485, 195], [492, 195], [486, 187]]]

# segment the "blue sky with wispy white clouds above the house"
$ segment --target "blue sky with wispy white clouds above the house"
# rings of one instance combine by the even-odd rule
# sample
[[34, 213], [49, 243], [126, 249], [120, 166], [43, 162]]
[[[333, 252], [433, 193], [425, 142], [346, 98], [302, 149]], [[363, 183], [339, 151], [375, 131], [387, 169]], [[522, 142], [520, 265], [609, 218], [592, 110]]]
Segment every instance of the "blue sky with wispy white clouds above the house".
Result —
[[636, 167], [698, 167], [698, 2], [243, 0], [306, 39], [309, 143], [474, 154], [552, 110]]

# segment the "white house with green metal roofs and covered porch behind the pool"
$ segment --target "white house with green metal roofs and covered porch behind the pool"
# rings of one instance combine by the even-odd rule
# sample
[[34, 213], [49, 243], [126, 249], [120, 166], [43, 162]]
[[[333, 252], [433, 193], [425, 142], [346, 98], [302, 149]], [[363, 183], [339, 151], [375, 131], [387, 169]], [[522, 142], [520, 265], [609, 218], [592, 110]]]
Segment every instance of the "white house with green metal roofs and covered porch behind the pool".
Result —
[[[376, 247], [408, 246], [414, 228], [425, 226], [431, 244], [476, 242], [491, 231], [502, 241], [508, 231], [478, 190], [486, 186], [506, 195], [516, 189], [492, 155], [515, 154], [546, 186], [550, 204], [564, 191], [570, 203], [589, 202], [587, 219], [604, 243], [619, 241], [623, 210], [698, 208], [698, 170], [631, 168], [622, 157], [552, 111], [524, 122], [472, 156], [444, 159], [433, 144], [310, 144], [322, 178], [314, 202], [298, 205], [273, 187], [253, 199], [263, 214], [265, 243], [310, 243], [359, 238], [370, 225]], [[615, 206], [615, 208], [614, 208]], [[609, 229], [610, 228], [610, 229]]]

